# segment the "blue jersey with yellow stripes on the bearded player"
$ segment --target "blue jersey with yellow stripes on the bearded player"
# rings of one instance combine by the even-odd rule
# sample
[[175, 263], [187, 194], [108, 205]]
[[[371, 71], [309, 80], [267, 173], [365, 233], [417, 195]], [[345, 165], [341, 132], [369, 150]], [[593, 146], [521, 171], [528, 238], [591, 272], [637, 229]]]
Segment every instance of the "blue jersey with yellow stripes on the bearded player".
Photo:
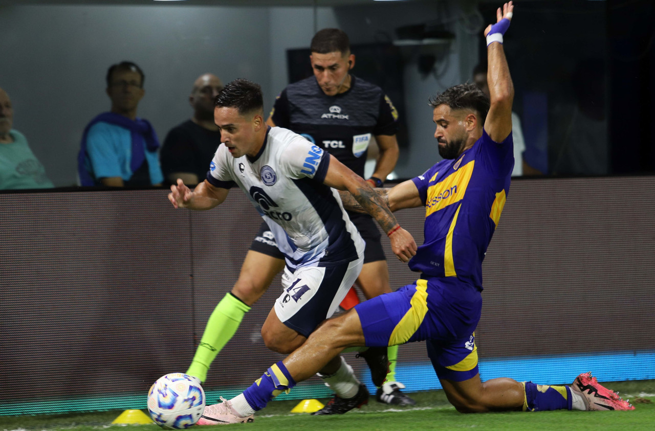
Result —
[[482, 261], [510, 190], [512, 147], [512, 133], [496, 143], [483, 130], [458, 158], [412, 180], [425, 205], [425, 241], [409, 261], [412, 271], [482, 290]]

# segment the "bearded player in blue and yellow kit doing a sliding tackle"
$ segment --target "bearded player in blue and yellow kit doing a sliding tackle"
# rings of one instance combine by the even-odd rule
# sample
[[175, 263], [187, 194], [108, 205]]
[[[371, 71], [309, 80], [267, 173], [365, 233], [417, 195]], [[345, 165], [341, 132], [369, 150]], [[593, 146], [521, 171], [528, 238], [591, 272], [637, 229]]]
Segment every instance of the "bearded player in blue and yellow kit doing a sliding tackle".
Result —
[[[512, 2], [506, 3], [496, 13], [498, 22], [485, 29], [489, 99], [474, 84], [463, 84], [430, 100], [434, 137], [444, 160], [415, 179], [377, 189], [392, 211], [425, 207], [425, 242], [409, 261], [410, 269], [421, 273], [420, 279], [326, 320], [243, 394], [206, 407], [199, 423], [252, 421], [254, 411], [314, 375], [346, 347], [409, 341], [426, 341], [441, 386], [462, 413], [633, 408], [589, 373], [580, 374], [570, 387], [507, 378], [483, 382], [478, 373], [474, 330], [482, 305], [481, 264], [514, 165], [514, 88], [502, 47], [513, 10]], [[341, 198], [344, 207], [359, 209], [346, 194]]]

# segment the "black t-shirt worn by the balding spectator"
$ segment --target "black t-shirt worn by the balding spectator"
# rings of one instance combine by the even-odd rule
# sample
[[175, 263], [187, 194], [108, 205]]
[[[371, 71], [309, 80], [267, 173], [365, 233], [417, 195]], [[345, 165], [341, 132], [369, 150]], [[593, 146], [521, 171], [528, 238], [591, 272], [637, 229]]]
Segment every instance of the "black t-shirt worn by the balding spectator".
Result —
[[220, 144], [221, 132], [208, 130], [191, 120], [170, 129], [159, 153], [164, 182], [170, 183], [168, 175], [174, 172], [195, 173], [202, 182]]

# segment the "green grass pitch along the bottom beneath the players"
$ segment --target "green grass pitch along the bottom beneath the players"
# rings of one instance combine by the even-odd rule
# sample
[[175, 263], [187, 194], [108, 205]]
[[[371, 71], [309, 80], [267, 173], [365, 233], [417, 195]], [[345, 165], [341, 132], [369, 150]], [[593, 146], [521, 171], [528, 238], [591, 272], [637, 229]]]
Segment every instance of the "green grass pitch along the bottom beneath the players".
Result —
[[[233, 424], [230, 429], [266, 430], [655, 430], [655, 380], [607, 383], [623, 398], [635, 405], [634, 411], [544, 411], [524, 413], [457, 413], [447, 402], [442, 390], [417, 392], [413, 407], [392, 408], [375, 402], [341, 416], [314, 417], [307, 413], [291, 414], [298, 400], [271, 402], [255, 415], [255, 422]], [[326, 402], [326, 400], [321, 400]], [[210, 400], [213, 402], [213, 400]], [[0, 416], [0, 431], [157, 431], [155, 424], [117, 425], [111, 422], [121, 411], [69, 413], [65, 415]], [[203, 426], [215, 429], [221, 426]], [[195, 427], [200, 429], [201, 427]]]

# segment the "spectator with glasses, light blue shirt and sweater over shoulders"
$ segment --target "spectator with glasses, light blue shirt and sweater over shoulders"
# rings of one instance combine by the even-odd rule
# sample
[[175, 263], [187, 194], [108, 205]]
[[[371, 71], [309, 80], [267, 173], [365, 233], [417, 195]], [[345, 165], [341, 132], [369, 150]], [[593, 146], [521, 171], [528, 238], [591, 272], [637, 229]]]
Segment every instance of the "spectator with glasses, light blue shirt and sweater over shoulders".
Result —
[[107, 71], [111, 112], [96, 116], [84, 129], [77, 158], [82, 186], [159, 186], [163, 181], [153, 126], [137, 118], [145, 94], [143, 71], [130, 61]]

